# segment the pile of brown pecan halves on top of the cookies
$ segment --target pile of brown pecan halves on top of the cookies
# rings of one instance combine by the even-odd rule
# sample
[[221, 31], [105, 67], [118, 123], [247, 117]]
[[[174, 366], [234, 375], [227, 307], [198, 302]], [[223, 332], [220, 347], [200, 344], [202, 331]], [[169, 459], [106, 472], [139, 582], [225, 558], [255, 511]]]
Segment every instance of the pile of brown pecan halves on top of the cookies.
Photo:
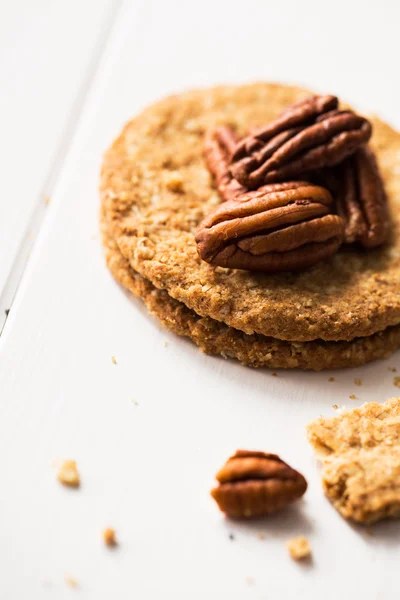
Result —
[[310, 267], [342, 243], [384, 244], [390, 219], [371, 130], [335, 96], [312, 96], [241, 140], [227, 126], [208, 132], [205, 159], [224, 202], [195, 234], [200, 257], [277, 273]]

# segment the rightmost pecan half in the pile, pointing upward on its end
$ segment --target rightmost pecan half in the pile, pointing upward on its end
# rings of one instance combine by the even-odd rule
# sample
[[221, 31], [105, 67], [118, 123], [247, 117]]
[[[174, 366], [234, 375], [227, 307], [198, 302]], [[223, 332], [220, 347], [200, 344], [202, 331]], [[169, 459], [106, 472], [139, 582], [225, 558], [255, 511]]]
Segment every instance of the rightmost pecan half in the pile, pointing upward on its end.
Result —
[[384, 244], [390, 232], [387, 197], [373, 152], [360, 148], [340, 167], [337, 208], [345, 221], [345, 242], [364, 248]]

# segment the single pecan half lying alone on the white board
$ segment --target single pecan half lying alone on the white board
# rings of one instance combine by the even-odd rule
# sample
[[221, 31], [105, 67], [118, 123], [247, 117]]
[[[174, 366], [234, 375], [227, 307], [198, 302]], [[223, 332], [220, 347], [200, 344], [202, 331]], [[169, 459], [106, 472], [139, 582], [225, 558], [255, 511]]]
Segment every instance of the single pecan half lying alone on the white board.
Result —
[[300, 498], [307, 482], [276, 454], [237, 450], [216, 478], [211, 496], [229, 517], [260, 517]]

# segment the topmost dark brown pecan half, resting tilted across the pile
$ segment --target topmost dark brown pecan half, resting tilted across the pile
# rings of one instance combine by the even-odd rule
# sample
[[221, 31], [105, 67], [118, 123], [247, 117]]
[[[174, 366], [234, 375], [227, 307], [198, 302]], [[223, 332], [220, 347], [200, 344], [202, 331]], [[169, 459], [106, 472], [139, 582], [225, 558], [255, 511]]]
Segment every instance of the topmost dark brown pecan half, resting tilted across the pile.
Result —
[[338, 110], [335, 96], [312, 96], [241, 140], [231, 159], [233, 177], [248, 189], [333, 166], [371, 137], [370, 123]]

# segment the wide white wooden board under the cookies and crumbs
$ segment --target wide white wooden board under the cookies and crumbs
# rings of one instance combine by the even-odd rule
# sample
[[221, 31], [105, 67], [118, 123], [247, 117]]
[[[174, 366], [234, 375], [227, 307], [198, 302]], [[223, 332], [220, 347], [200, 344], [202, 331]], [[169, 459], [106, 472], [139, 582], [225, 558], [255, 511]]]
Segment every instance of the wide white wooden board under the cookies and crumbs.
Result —
[[[399, 353], [334, 373], [334, 383], [332, 373], [275, 378], [200, 354], [108, 274], [97, 185], [122, 123], [196, 85], [297, 81], [400, 126], [399, 17], [389, 0], [124, 3], [0, 338], [2, 600], [398, 597], [399, 523], [369, 534], [339, 517], [304, 427], [333, 404], [395, 395], [388, 366], [400, 371]], [[304, 502], [263, 522], [224, 520], [208, 493], [238, 447], [299, 468], [310, 483]], [[77, 460], [80, 490], [57, 483], [57, 457]], [[115, 551], [102, 545], [108, 525]], [[287, 555], [298, 534], [312, 544], [309, 567]]]

